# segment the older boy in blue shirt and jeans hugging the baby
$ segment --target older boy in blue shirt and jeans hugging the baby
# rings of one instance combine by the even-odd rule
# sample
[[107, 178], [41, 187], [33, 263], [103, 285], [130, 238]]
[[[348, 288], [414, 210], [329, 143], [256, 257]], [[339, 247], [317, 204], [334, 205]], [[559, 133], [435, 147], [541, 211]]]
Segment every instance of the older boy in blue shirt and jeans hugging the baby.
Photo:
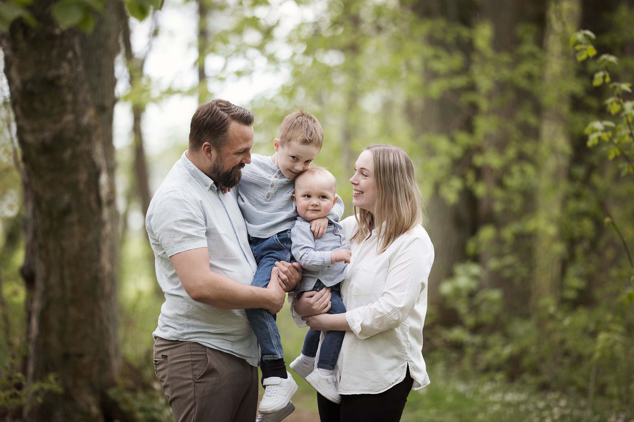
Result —
[[[257, 262], [252, 286], [266, 287], [271, 268], [278, 261], [291, 261], [290, 229], [295, 225], [292, 201], [294, 179], [310, 166], [321, 149], [323, 131], [319, 121], [303, 110], [282, 121], [273, 141], [271, 157], [252, 154], [251, 163], [242, 170], [238, 184], [238, 205], [247, 221], [249, 243]], [[343, 203], [333, 207], [339, 220]], [[324, 221], [325, 220], [325, 221]], [[321, 220], [322, 229], [327, 219]], [[297, 391], [297, 384], [286, 369], [275, 313], [266, 309], [247, 309], [261, 350], [264, 396], [258, 406], [262, 414], [280, 411]]]

